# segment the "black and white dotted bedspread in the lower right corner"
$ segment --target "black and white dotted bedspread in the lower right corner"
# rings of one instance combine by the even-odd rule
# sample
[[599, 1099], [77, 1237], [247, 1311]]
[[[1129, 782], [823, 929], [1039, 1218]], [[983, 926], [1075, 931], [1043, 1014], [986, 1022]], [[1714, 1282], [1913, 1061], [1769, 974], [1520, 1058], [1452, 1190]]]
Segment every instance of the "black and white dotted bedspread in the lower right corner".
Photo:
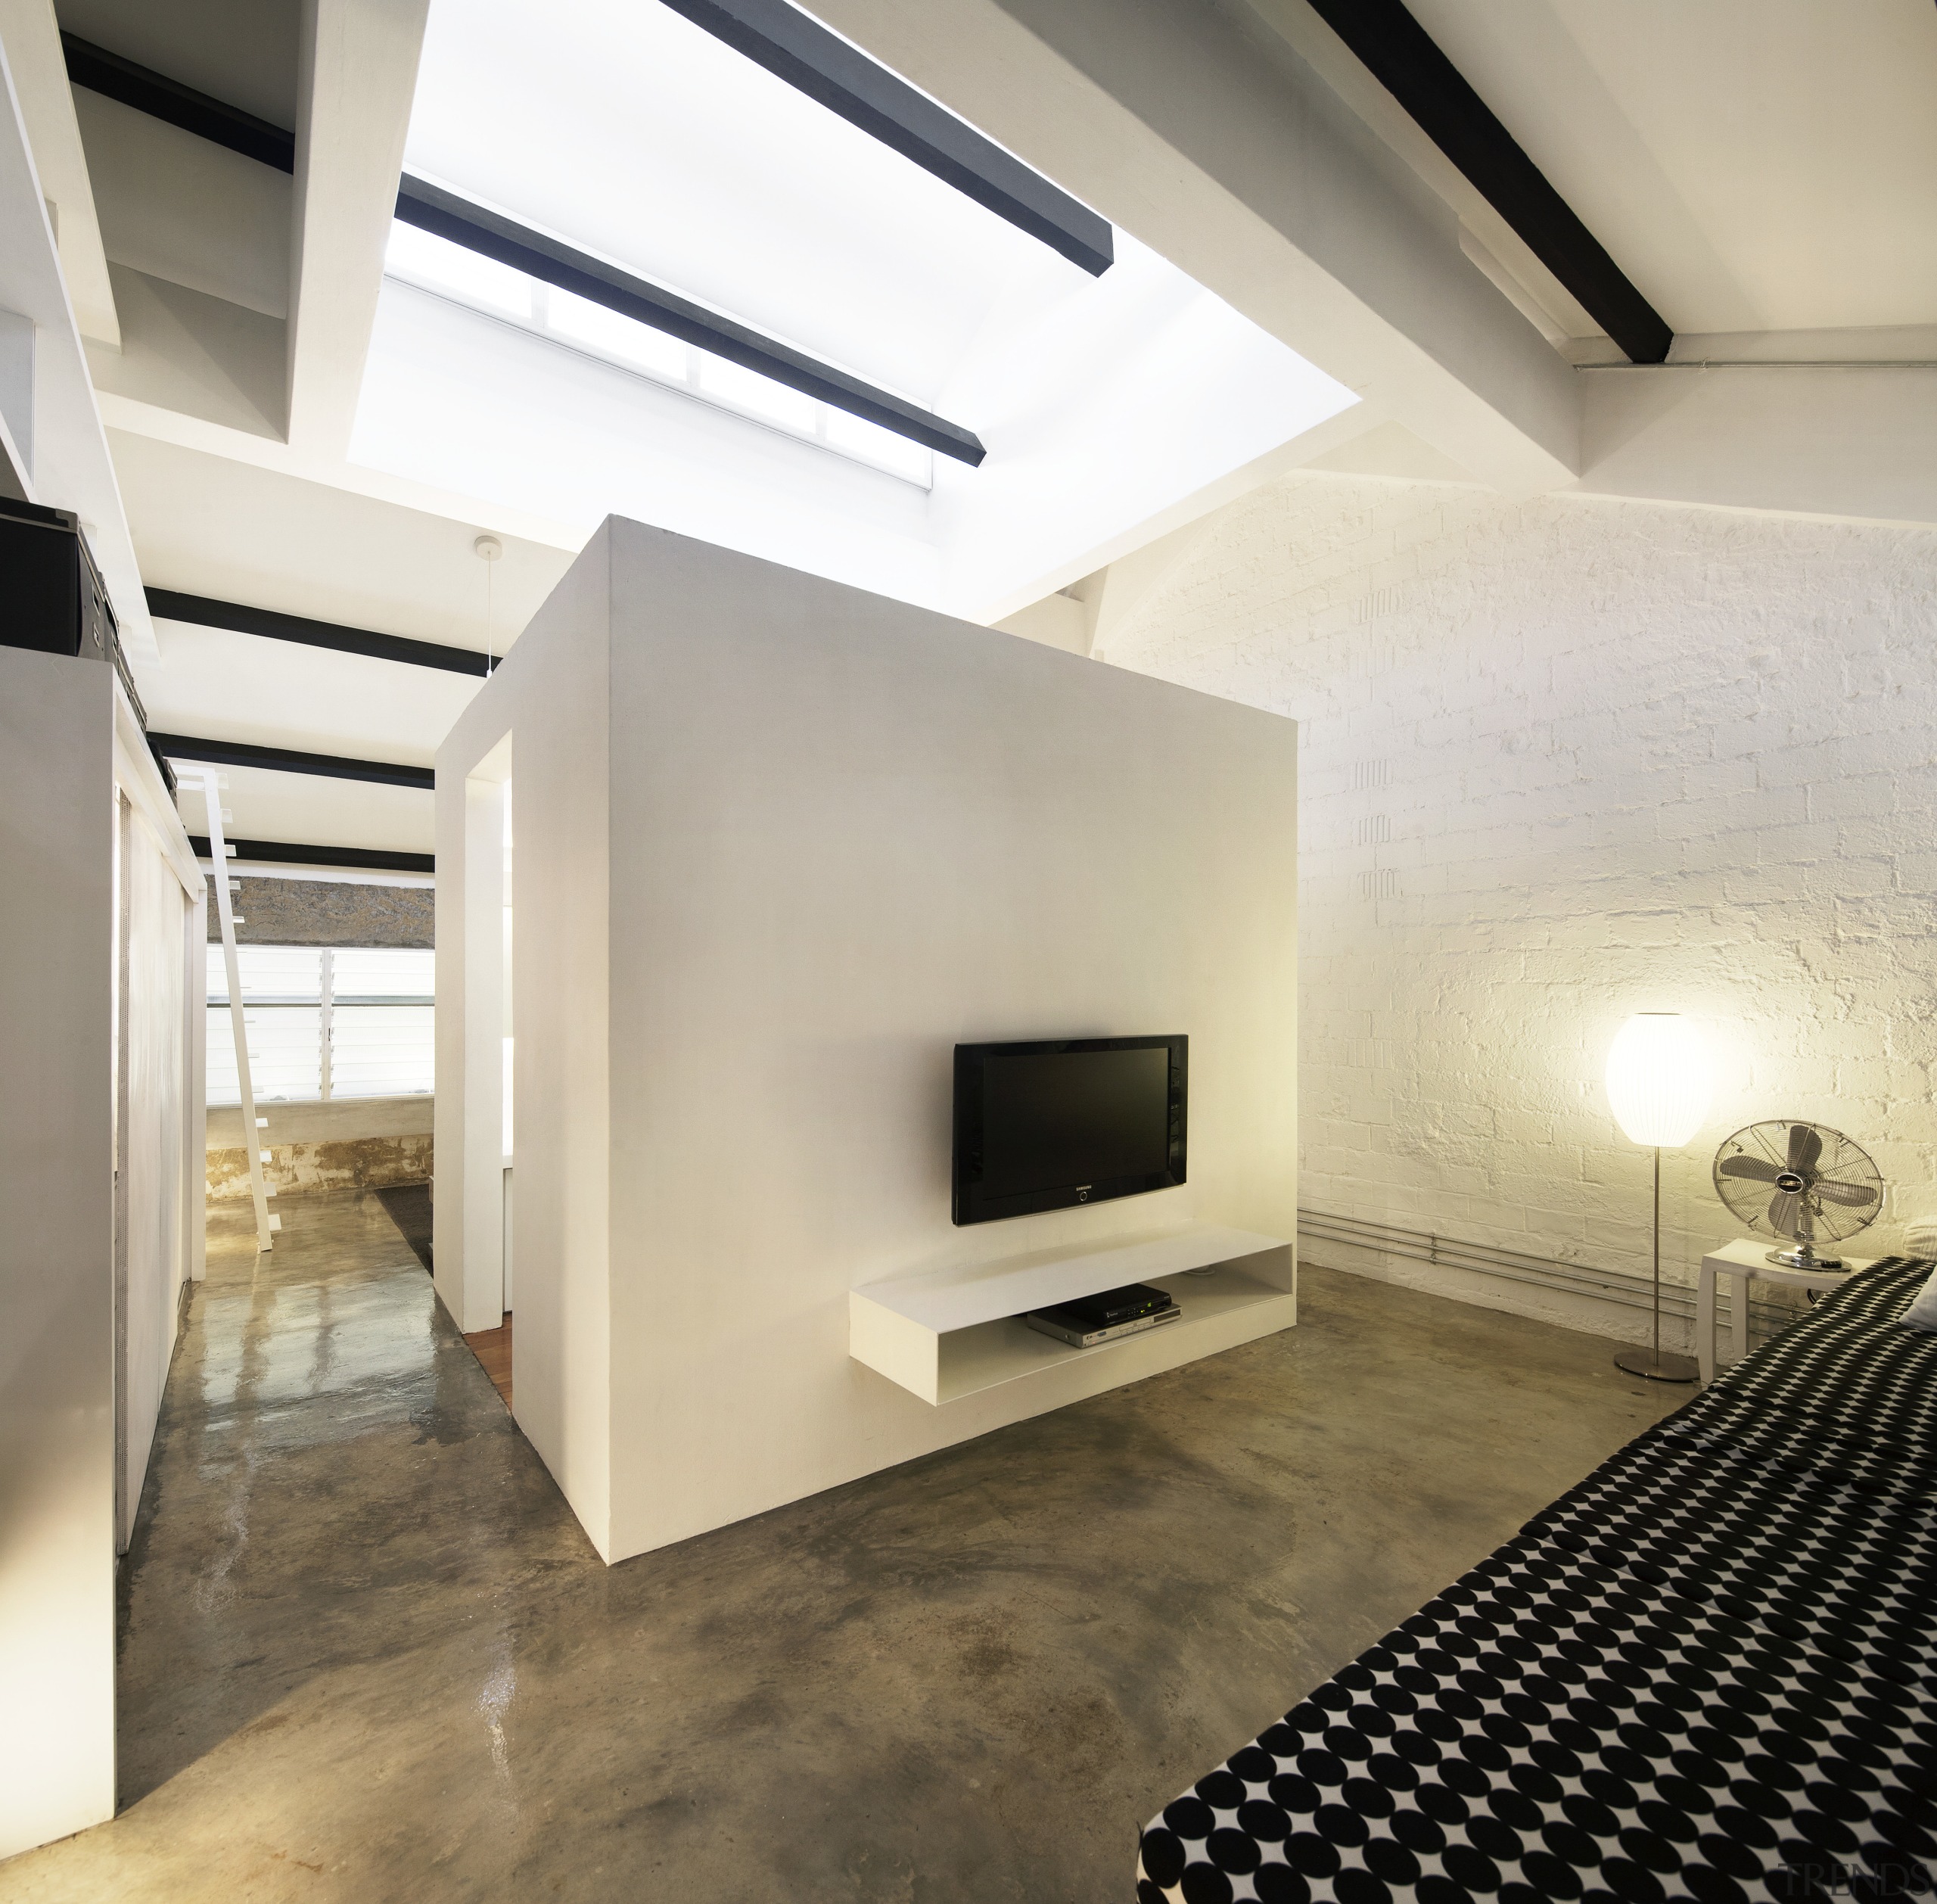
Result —
[[1929, 1273], [1854, 1276], [1199, 1778], [1139, 1904], [1937, 1890]]

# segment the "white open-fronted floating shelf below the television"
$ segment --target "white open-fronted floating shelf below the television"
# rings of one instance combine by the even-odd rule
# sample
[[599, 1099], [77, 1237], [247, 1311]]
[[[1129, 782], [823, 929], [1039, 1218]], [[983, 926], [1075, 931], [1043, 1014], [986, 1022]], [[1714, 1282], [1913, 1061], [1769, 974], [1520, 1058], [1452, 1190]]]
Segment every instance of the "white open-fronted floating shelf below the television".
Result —
[[[1021, 1321], [1029, 1309], [1125, 1282], [1156, 1284], [1184, 1313], [1096, 1348], [1071, 1348]], [[1292, 1286], [1284, 1238], [1193, 1224], [870, 1282], [848, 1292], [848, 1354], [936, 1406], [1096, 1356], [1112, 1358], [1110, 1379], [1096, 1383], [1104, 1389], [1288, 1327], [1298, 1319]]]

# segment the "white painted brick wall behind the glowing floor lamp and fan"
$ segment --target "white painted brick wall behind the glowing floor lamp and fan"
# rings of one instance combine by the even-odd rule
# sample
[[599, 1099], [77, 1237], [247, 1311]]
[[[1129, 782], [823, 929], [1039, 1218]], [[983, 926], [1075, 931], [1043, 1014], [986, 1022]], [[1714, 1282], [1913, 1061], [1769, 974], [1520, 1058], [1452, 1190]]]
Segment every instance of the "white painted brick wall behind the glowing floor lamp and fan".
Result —
[[1710, 1160], [1763, 1118], [1877, 1158], [1863, 1253], [1937, 1214], [1937, 533], [1296, 475], [1106, 659], [1304, 722], [1304, 1205], [1645, 1273], [1602, 1059], [1679, 1009], [1718, 1092], [1666, 1273], [1736, 1234]]

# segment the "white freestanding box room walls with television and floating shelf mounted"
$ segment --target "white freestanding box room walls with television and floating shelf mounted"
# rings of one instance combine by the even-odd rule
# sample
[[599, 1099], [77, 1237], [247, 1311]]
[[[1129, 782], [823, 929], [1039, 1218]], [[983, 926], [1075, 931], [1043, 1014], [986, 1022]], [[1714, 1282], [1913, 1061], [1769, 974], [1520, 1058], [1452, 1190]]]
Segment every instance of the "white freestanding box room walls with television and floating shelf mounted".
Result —
[[[1195, 1352], [932, 1406], [850, 1358], [856, 1286], [1294, 1234], [1290, 721], [614, 519], [438, 753], [440, 870], [507, 738], [517, 1416], [608, 1559]], [[478, 1327], [488, 908], [444, 879], [438, 1290]], [[1178, 1030], [1187, 1185], [951, 1224], [957, 1040]]]

